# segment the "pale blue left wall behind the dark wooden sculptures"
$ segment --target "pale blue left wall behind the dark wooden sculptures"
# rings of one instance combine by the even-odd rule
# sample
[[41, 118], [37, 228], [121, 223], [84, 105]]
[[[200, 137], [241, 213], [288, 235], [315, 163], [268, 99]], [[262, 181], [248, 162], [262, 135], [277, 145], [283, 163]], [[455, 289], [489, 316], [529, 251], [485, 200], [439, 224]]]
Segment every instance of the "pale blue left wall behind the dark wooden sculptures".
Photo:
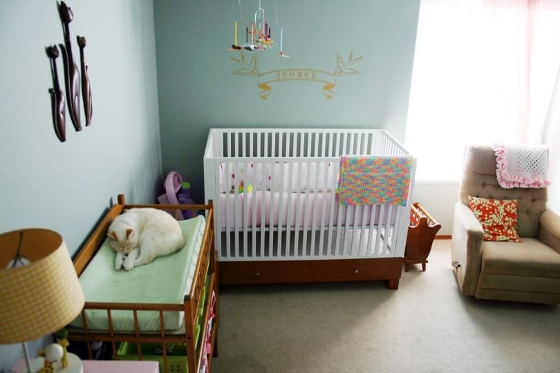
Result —
[[[161, 161], [152, 1], [66, 3], [78, 61], [75, 37], [87, 39], [93, 124], [77, 133], [67, 117], [61, 143], [45, 53], [64, 41], [57, 2], [0, 1], [0, 232], [54, 229], [73, 254], [118, 193], [129, 202], [155, 200]], [[58, 69], [62, 76], [62, 59]], [[1, 345], [0, 370], [21, 356], [21, 345]]]

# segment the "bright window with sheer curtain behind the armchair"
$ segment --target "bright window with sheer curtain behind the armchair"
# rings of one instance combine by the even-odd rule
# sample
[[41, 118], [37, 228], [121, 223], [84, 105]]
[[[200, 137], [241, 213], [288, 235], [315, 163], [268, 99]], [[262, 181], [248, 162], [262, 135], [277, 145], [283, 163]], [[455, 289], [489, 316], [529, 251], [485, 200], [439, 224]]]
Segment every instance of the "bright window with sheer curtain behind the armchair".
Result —
[[467, 143], [546, 142], [559, 68], [560, 1], [422, 0], [405, 139], [418, 180], [458, 180]]

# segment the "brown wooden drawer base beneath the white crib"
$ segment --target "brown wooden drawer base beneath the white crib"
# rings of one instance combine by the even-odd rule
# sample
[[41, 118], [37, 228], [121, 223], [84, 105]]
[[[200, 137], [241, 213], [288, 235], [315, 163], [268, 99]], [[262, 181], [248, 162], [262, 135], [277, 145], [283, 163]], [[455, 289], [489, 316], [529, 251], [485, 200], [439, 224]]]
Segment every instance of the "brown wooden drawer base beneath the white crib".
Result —
[[218, 262], [221, 284], [385, 280], [398, 289], [402, 258]]

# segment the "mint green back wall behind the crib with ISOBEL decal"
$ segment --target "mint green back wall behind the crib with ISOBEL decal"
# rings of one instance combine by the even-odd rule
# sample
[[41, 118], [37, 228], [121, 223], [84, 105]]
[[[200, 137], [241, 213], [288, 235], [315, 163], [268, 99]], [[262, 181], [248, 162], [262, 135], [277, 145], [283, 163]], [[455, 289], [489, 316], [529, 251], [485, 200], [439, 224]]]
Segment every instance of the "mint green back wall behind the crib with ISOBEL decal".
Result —
[[283, 46], [258, 55], [259, 71], [310, 68], [333, 72], [337, 52], [362, 60], [361, 75], [337, 78], [333, 99], [310, 82], [274, 84], [259, 98], [256, 78], [240, 77], [227, 51], [234, 21], [238, 41], [259, 1], [154, 0], [163, 171], [180, 171], [203, 200], [203, 152], [211, 127], [386, 128], [404, 142], [419, 0], [261, 1]]

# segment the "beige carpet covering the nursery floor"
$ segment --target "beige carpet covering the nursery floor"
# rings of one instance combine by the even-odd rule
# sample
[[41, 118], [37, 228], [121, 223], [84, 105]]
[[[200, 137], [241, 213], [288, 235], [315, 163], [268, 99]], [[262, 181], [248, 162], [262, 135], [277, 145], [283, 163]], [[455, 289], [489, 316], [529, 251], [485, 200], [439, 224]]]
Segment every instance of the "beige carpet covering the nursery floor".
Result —
[[560, 307], [461, 295], [449, 240], [382, 282], [222, 287], [212, 372], [560, 372]]

